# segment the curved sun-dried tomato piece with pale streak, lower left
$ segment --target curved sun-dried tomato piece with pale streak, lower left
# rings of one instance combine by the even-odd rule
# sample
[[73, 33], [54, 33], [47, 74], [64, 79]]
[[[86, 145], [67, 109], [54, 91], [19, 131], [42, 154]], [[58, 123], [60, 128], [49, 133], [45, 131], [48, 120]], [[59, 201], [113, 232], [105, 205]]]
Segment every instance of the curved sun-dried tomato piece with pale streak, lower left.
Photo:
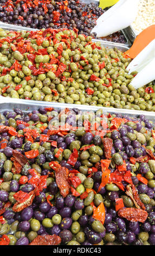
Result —
[[[28, 206], [30, 206], [33, 203], [34, 197], [35, 197], [35, 192], [34, 190], [27, 193], [28, 194], [28, 198], [25, 197], [25, 200], [22, 200], [22, 203], [18, 203], [16, 202], [14, 204], [14, 206], [12, 207], [12, 210], [15, 212], [19, 212], [22, 211], [24, 208], [27, 208]], [[15, 196], [15, 194], [14, 194]]]

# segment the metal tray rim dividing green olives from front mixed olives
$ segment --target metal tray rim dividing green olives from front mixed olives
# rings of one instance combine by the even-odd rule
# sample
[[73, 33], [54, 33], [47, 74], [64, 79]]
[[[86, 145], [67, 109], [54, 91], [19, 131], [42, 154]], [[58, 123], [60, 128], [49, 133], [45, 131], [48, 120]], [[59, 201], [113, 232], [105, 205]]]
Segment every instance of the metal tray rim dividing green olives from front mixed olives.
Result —
[[88, 105], [77, 105], [77, 104], [68, 104], [68, 103], [58, 103], [58, 102], [46, 102], [46, 101], [35, 101], [35, 100], [18, 100], [2, 97], [0, 98], [0, 113], [5, 110], [11, 110], [13, 108], [20, 108], [22, 111], [29, 112], [31, 110], [37, 110], [40, 107], [54, 107], [56, 109], [64, 108], [78, 108], [82, 111], [95, 112], [99, 109], [103, 109], [104, 113], [111, 114], [127, 114], [131, 117], [138, 117], [140, 114], [145, 115], [149, 120], [155, 121], [155, 113], [150, 111], [136, 111], [134, 109], [124, 109], [124, 108], [107, 108], [107, 107], [98, 107], [98, 106], [88, 106]]

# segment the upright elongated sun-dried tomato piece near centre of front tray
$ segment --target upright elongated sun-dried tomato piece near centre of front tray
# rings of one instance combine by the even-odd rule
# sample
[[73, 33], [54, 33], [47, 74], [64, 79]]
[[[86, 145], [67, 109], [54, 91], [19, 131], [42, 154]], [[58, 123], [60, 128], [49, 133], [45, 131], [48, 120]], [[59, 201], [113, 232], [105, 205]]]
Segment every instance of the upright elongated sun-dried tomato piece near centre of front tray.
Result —
[[67, 197], [69, 194], [69, 170], [66, 167], [61, 167], [55, 170], [56, 184], [60, 189], [60, 194]]

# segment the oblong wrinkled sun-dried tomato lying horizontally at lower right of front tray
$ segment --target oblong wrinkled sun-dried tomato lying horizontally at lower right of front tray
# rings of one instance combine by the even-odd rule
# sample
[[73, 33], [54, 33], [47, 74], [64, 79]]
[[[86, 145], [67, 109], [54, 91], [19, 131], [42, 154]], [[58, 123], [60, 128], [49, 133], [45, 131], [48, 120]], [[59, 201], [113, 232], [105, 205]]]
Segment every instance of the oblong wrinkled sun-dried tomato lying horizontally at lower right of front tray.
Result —
[[121, 218], [126, 218], [128, 221], [139, 221], [144, 223], [147, 219], [147, 211], [136, 208], [122, 208], [118, 211]]

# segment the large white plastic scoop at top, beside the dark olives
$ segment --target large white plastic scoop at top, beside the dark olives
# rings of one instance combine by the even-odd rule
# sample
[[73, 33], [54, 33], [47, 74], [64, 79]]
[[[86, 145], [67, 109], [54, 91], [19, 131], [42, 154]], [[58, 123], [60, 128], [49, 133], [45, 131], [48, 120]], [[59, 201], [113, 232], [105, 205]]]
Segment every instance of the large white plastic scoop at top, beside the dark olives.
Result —
[[104, 37], [130, 26], [137, 16], [138, 3], [139, 0], [119, 0], [96, 20], [91, 33]]

